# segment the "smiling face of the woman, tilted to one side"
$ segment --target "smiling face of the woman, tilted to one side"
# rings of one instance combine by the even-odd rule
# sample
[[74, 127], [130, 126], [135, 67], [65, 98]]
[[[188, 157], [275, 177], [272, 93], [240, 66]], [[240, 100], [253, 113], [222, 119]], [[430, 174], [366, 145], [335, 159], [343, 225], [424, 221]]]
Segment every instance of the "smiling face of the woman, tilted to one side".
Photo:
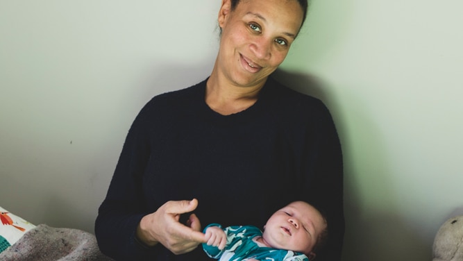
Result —
[[241, 0], [233, 11], [223, 0], [219, 74], [237, 86], [263, 83], [285, 60], [302, 19], [296, 0]]

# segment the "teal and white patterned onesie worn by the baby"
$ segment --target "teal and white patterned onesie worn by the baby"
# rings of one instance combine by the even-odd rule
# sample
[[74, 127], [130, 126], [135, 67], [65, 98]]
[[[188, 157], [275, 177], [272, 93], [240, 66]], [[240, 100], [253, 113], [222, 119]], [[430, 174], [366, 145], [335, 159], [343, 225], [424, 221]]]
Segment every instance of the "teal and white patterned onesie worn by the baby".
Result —
[[[219, 224], [210, 224], [206, 228], [210, 226], [222, 228]], [[308, 257], [303, 253], [258, 245], [253, 239], [262, 237], [262, 232], [255, 226], [229, 226], [224, 231], [227, 235], [227, 244], [224, 250], [219, 250], [216, 246], [203, 244], [203, 250], [210, 258], [220, 259], [221, 261], [249, 259], [259, 261], [309, 261]]]

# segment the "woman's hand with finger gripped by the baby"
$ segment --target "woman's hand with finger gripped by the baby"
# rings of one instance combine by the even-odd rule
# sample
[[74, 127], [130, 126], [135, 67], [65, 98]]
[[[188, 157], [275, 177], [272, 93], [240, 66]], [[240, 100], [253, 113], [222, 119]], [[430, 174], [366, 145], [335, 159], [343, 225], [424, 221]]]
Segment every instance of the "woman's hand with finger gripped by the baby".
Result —
[[161, 243], [172, 253], [188, 253], [206, 242], [201, 233], [201, 224], [195, 214], [190, 215], [187, 226], [180, 224], [180, 214], [191, 212], [198, 206], [198, 200], [168, 201], [156, 212], [147, 214], [137, 227], [137, 237], [144, 244], [154, 246]]

